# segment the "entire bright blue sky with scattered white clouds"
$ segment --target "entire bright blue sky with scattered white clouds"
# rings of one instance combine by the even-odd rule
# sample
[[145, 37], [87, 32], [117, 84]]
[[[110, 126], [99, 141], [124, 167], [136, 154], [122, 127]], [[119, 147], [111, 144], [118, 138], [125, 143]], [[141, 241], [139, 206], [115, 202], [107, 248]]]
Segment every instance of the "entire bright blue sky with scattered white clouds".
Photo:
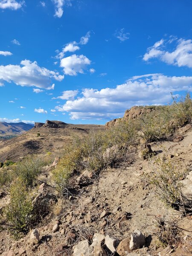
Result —
[[192, 91], [191, 0], [0, 0], [0, 121], [104, 124]]

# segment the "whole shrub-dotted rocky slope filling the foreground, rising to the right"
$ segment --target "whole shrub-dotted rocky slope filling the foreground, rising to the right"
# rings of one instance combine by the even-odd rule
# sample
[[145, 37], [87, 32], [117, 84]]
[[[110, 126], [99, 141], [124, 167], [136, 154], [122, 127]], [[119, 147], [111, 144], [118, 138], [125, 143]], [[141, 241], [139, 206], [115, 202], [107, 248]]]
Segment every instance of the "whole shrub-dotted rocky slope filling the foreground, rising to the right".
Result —
[[75, 136], [56, 157], [5, 164], [0, 253], [192, 255], [192, 100], [147, 109]]

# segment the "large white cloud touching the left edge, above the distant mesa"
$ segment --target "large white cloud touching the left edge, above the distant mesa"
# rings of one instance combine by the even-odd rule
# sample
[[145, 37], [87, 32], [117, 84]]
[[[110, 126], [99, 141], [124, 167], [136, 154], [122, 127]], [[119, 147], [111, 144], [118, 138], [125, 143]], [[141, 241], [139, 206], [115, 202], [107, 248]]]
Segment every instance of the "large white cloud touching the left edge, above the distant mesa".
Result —
[[59, 75], [58, 72], [48, 70], [45, 67], [39, 67], [37, 62], [24, 60], [20, 65], [6, 65], [0, 66], [0, 82], [7, 81], [14, 82], [21, 86], [35, 86], [47, 90], [53, 89], [52, 79], [62, 81], [64, 76]]

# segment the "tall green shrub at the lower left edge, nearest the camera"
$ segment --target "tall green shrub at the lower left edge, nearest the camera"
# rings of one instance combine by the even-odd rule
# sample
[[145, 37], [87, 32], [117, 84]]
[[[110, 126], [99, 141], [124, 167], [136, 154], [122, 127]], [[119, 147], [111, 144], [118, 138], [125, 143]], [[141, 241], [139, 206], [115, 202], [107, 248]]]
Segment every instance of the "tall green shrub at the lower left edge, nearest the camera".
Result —
[[12, 233], [15, 238], [28, 233], [35, 218], [32, 209], [26, 184], [20, 179], [15, 180], [10, 188], [10, 202], [3, 209], [1, 228]]

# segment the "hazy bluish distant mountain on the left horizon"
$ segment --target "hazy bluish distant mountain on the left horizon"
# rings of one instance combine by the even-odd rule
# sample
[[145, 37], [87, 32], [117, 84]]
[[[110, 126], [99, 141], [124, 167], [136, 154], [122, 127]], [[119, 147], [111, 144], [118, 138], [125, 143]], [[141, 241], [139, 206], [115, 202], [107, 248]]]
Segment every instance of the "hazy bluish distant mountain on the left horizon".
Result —
[[0, 134], [7, 134], [7, 133], [19, 134], [24, 131], [29, 131], [33, 127], [34, 125], [26, 124], [23, 122], [18, 122], [18, 123], [0, 122]]

